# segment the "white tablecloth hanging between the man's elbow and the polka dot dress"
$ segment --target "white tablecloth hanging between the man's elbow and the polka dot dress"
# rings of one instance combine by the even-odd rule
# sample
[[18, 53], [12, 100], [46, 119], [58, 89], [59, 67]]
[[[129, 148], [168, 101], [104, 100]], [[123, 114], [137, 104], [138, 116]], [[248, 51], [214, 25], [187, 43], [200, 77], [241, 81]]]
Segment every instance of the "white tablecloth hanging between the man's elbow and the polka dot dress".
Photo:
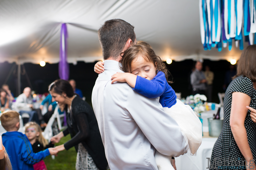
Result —
[[203, 138], [202, 144], [198, 148], [196, 156], [191, 156], [189, 153], [175, 158], [177, 170], [207, 170], [208, 159], [211, 158], [212, 148], [217, 138]]

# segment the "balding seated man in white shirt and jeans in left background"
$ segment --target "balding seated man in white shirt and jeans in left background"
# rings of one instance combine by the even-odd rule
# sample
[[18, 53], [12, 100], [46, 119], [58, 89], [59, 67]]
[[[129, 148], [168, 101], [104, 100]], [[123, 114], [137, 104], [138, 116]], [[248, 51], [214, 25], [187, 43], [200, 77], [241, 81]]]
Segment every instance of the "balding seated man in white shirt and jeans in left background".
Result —
[[[33, 99], [31, 96], [31, 89], [29, 87], [24, 88], [23, 93], [20, 94], [15, 102], [15, 105], [20, 108], [20, 115], [23, 113], [29, 114], [28, 121], [35, 121], [38, 124], [41, 124], [41, 127], [45, 127], [46, 123], [44, 121], [44, 118], [42, 116], [40, 109], [35, 109], [33, 105]], [[31, 111], [24, 111], [22, 110], [22, 107], [27, 108], [29, 107]], [[24, 124], [27, 123], [27, 121], [24, 120]]]

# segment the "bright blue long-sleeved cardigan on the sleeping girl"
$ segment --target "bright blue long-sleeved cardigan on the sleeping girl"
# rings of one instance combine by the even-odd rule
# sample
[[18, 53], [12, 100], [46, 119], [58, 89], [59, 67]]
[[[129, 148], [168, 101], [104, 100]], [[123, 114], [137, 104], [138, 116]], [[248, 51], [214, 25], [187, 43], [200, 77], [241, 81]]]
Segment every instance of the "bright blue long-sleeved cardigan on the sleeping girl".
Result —
[[176, 104], [177, 96], [175, 91], [167, 83], [165, 74], [162, 71], [159, 71], [153, 80], [137, 76], [133, 90], [148, 98], [160, 97], [159, 102], [163, 107], [170, 108]]

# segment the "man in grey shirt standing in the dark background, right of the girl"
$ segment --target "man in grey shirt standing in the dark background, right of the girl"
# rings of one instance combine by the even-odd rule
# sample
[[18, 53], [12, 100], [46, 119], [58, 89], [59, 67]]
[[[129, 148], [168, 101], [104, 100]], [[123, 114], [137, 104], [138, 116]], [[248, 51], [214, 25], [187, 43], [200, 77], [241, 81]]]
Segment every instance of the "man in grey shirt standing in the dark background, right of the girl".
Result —
[[201, 94], [205, 95], [205, 90], [206, 90], [206, 79], [205, 75], [202, 72], [202, 62], [197, 61], [195, 65], [195, 71], [193, 71], [190, 75], [190, 83], [192, 85], [193, 89], [193, 95], [195, 94]]

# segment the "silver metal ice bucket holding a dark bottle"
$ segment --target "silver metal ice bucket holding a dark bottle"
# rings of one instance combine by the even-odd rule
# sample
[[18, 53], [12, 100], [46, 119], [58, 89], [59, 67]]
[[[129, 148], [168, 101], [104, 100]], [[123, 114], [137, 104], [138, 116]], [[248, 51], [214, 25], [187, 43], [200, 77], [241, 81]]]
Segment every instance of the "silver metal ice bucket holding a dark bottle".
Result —
[[219, 137], [223, 127], [223, 120], [208, 118], [209, 136]]

